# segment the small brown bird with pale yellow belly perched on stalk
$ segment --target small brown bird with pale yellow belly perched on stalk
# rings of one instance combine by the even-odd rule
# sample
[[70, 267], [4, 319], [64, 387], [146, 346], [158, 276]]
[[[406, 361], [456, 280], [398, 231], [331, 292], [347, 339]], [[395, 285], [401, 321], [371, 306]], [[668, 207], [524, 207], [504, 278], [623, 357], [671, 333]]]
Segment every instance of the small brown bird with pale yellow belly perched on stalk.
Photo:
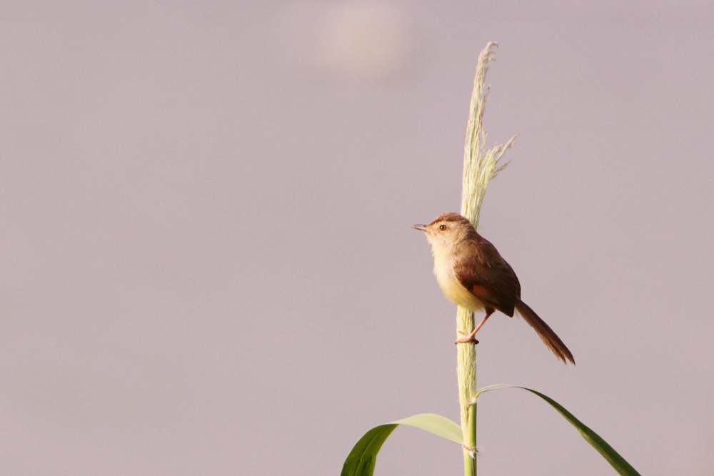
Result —
[[448, 300], [471, 312], [486, 311], [473, 332], [456, 343], [475, 342], [476, 333], [496, 310], [508, 317], [518, 311], [538, 333], [555, 357], [575, 365], [573, 354], [553, 329], [521, 300], [521, 283], [511, 265], [501, 258], [490, 241], [476, 233], [468, 219], [458, 213], [442, 213], [428, 225], [412, 228], [426, 233], [434, 255], [434, 274]]

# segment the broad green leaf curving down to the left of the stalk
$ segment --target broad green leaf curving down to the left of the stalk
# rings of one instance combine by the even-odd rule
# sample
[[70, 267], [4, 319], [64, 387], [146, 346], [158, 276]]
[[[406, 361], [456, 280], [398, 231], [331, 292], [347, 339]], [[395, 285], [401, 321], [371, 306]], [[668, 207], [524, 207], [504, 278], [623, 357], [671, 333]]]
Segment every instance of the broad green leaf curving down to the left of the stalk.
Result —
[[391, 432], [399, 425], [421, 428], [434, 435], [461, 445], [461, 427], [446, 417], [433, 413], [421, 413], [403, 418], [387, 425], [373, 427], [359, 439], [342, 466], [341, 476], [372, 476], [377, 462], [377, 453]]

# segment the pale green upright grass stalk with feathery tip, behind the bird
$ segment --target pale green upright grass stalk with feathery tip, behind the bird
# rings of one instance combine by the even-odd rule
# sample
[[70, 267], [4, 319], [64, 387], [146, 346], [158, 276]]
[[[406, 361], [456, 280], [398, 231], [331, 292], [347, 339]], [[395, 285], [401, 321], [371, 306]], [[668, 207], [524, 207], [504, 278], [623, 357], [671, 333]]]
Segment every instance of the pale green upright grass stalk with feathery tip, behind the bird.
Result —
[[[481, 203], [486, 194], [486, 186], [491, 178], [496, 177], [508, 163], [499, 166], [498, 163], [516, 143], [516, 136], [500, 146], [494, 146], [484, 151], [486, 133], [483, 131], [483, 113], [488, 102], [486, 71], [493, 60], [493, 49], [498, 46], [491, 41], [478, 55], [476, 76], [473, 79], [473, 93], [469, 107], [468, 126], [466, 128], [466, 144], [463, 151], [463, 181], [461, 192], [461, 215], [468, 218], [475, 228], [478, 228], [478, 216]], [[457, 338], [468, 335], [475, 323], [473, 313], [459, 307], [456, 313]], [[474, 343], [456, 346], [456, 372], [458, 375], [458, 399], [461, 405], [461, 430], [463, 432], [463, 462], [464, 474], [476, 476], [476, 345]]]

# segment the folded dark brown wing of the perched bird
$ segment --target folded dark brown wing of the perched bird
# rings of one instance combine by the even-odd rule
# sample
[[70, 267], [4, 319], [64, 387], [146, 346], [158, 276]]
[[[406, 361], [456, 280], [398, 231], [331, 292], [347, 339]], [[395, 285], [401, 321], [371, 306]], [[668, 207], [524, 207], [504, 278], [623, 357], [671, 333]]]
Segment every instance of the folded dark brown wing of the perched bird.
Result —
[[496, 247], [481, 236], [463, 243], [456, 253], [456, 278], [481, 302], [513, 317], [521, 283]]

